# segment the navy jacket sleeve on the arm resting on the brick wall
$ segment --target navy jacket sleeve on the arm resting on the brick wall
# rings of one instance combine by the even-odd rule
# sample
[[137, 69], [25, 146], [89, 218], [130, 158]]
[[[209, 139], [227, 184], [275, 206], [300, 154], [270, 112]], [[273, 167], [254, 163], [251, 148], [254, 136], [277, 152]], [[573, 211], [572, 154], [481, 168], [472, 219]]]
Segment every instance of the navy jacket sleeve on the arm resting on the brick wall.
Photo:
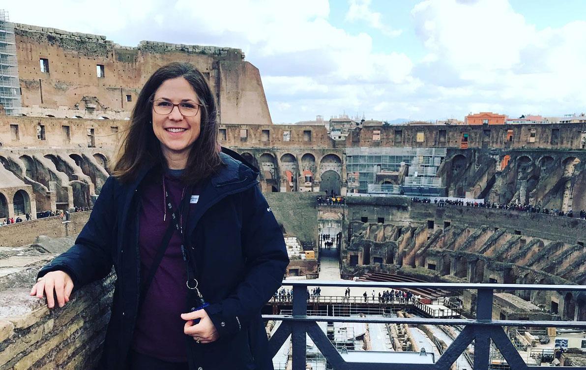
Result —
[[74, 288], [78, 289], [108, 276], [113, 265], [112, 243], [116, 243], [114, 182], [112, 176], [106, 180], [75, 245], [43, 267], [38, 277], [50, 271], [62, 270], [71, 276]]

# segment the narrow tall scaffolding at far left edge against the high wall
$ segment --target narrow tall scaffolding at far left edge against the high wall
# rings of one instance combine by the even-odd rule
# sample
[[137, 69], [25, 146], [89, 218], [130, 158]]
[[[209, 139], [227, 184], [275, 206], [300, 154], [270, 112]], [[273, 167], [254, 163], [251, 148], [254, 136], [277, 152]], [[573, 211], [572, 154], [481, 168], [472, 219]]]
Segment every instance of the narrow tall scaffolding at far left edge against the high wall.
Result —
[[21, 104], [14, 25], [0, 9], [0, 105], [7, 116], [20, 116]]

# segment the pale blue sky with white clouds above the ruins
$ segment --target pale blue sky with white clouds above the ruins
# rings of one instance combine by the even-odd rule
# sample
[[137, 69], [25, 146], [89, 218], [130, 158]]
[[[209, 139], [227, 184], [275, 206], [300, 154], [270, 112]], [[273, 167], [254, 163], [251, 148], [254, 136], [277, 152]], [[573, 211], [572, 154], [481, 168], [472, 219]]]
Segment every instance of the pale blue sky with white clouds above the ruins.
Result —
[[[242, 49], [274, 123], [586, 111], [586, 0], [28, 0], [12, 22]], [[35, 9], [35, 11], [30, 11]]]

